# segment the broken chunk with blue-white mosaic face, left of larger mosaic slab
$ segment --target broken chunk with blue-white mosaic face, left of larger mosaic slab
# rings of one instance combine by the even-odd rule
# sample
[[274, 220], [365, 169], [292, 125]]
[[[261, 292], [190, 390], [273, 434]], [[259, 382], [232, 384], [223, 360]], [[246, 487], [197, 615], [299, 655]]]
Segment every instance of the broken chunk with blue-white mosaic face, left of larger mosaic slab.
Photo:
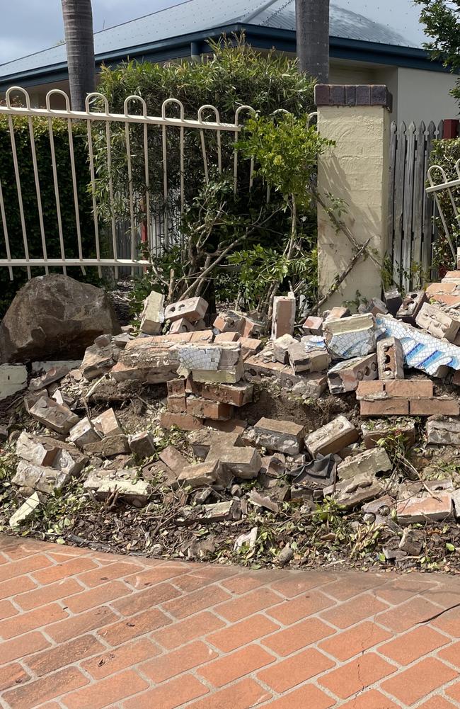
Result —
[[323, 332], [332, 359], [365, 357], [376, 351], [374, 316], [353, 315], [339, 320], [325, 320]]

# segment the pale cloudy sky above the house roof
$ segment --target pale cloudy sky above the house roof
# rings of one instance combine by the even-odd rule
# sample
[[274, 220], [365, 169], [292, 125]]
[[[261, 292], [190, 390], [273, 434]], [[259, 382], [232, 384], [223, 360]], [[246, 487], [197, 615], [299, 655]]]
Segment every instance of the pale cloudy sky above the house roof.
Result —
[[[92, 0], [94, 31], [113, 27], [179, 4], [181, 0]], [[209, 0], [212, 2], [213, 0]], [[228, 0], [231, 4], [232, 0]], [[420, 9], [411, 0], [331, 0], [397, 29], [413, 40], [422, 37]], [[47, 49], [64, 39], [61, 0], [0, 0], [0, 64]], [[415, 43], [417, 45], [417, 43]]]

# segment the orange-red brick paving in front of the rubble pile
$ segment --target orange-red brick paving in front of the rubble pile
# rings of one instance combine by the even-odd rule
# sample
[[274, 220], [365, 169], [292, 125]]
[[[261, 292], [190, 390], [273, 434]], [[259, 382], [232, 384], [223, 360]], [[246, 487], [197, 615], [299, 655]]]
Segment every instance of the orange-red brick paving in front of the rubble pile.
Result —
[[460, 707], [460, 607], [443, 612], [460, 603], [459, 583], [245, 571], [0, 535], [0, 705]]

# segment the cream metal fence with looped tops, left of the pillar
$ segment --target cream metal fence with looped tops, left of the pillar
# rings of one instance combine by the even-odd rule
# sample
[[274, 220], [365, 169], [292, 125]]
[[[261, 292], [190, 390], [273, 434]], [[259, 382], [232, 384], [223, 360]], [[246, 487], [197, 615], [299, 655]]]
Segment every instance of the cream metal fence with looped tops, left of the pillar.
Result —
[[[21, 103], [18, 105], [18, 96], [21, 96]], [[52, 108], [52, 103], [58, 97], [64, 108]], [[135, 113], [133, 111], [139, 111]], [[173, 112], [179, 116], [172, 116]], [[186, 184], [184, 184], [184, 163], [187, 159], [187, 145], [189, 137], [199, 140], [201, 143], [201, 165], [197, 166], [203, 174], [203, 184], [208, 182], [211, 174], [229, 175], [233, 181], [233, 189], [236, 193], [239, 181], [239, 165], [237, 149], [234, 147], [235, 141], [241, 130], [240, 120], [242, 113], [251, 112], [250, 106], [240, 106], [235, 111], [233, 123], [220, 121], [218, 109], [215, 106], [201, 106], [196, 118], [186, 118], [184, 106], [181, 101], [168, 99], [162, 104], [161, 116], [148, 116], [147, 104], [140, 96], [128, 96], [125, 99], [123, 113], [111, 113], [108, 100], [99, 93], [90, 94], [86, 99], [86, 111], [72, 111], [69, 98], [63, 91], [53, 90], [46, 96], [45, 108], [31, 108], [30, 98], [25, 89], [13, 86], [6, 92], [4, 106], [0, 106], [0, 118], [6, 116], [9, 125], [9, 141], [11, 143], [11, 153], [13, 157], [14, 183], [16, 186], [16, 196], [18, 211], [20, 214], [20, 240], [22, 240], [22, 254], [15, 255], [18, 250], [18, 233], [13, 234], [9, 230], [8, 208], [4, 201], [4, 189], [2, 181], [5, 176], [0, 174], [0, 267], [9, 269], [10, 278], [13, 279], [13, 269], [16, 267], [26, 267], [28, 277], [31, 277], [31, 269], [35, 267], [44, 268], [45, 272], [50, 267], [61, 267], [66, 272], [67, 267], [97, 267], [101, 274], [102, 267], [115, 267], [118, 276], [119, 267], [139, 267], [149, 263], [145, 255], [145, 250], [139, 250], [140, 234], [143, 241], [152, 252], [157, 252], [162, 245], [167, 245], [168, 240], [177, 238], [178, 223], [180, 215], [186, 208]], [[211, 116], [211, 120], [206, 119]], [[27, 204], [23, 201], [23, 180], [30, 179], [30, 176], [23, 174], [21, 160], [18, 158], [16, 146], [16, 120], [25, 117], [28, 121], [28, 134], [30, 140], [30, 157], [33, 166], [33, 183], [36, 197], [36, 207], [38, 212], [38, 222], [40, 225], [40, 253], [31, 252], [28, 239], [27, 226]], [[44, 218], [45, 206], [42, 203], [43, 174], [40, 174], [40, 165], [35, 147], [35, 123], [36, 119], [47, 121], [49, 133], [50, 152], [49, 158], [52, 168], [52, 183], [54, 191], [55, 218], [57, 219], [57, 233], [59, 236], [59, 255], [48, 253], [47, 224]], [[68, 167], [72, 176], [73, 209], [75, 213], [76, 228], [73, 234], [64, 234], [62, 225], [62, 201], [60, 196], [60, 165], [57, 162], [55, 150], [55, 140], [53, 128], [55, 121], [66, 121], [68, 131]], [[74, 157], [74, 135], [72, 127], [75, 123], [86, 123], [87, 135], [87, 162], [89, 165], [89, 190], [92, 201], [92, 223], [94, 225], [94, 249], [92, 255], [84, 252], [84, 240], [82, 240], [82, 211], [79, 200], [79, 177]], [[140, 128], [133, 128], [140, 126]], [[124, 130], [123, 130], [124, 127]], [[156, 133], [159, 154], [152, 160], [150, 155], [150, 136], [152, 131]], [[134, 135], [135, 133], [135, 135]], [[170, 136], [174, 135], [174, 152], [170, 152]], [[223, 137], [227, 136], [225, 145]], [[120, 184], [113, 181], [113, 146], [112, 140], [116, 138], [123, 142], [123, 169], [125, 169], [126, 182], [121, 191], [125, 194], [125, 203], [129, 205], [129, 213], [123, 218], [117, 215], [116, 203], [120, 198]], [[96, 143], [96, 147], [95, 147]], [[108, 212], [103, 213], [97, 187], [100, 176], [98, 170], [101, 169], [101, 145], [103, 152], [103, 168], [106, 169], [106, 187], [108, 191]], [[118, 143], [118, 148], [120, 143]], [[96, 154], [97, 153], [97, 154]], [[120, 151], [118, 150], [118, 155]], [[172, 181], [170, 174], [170, 162], [172, 158], [176, 161], [178, 168], [175, 180]], [[43, 160], [43, 155], [40, 155]], [[225, 163], [225, 165], [224, 165]], [[133, 169], [140, 168], [142, 176], [142, 188], [136, 185]], [[152, 170], [152, 164], [155, 169]], [[253, 164], [247, 164], [245, 179], [248, 179], [246, 189], [252, 186]], [[152, 204], [152, 181], [162, 181], [163, 203], [161, 205]], [[5, 188], [5, 184], [4, 184]], [[157, 194], [157, 193], [156, 193]], [[172, 200], [172, 196], [174, 199]], [[172, 201], [174, 205], [171, 206]], [[47, 205], [47, 208], [50, 206]], [[140, 212], [142, 211], [142, 216]], [[174, 223], [174, 224], [173, 224]], [[119, 235], [120, 225], [125, 225], [123, 232], [129, 240], [128, 253], [125, 249], [120, 255]], [[128, 225], [128, 229], [126, 229]], [[108, 235], [108, 240], [107, 240]], [[14, 242], [14, 249], [12, 248]], [[66, 247], [69, 240], [73, 240], [73, 250], [77, 256], [66, 255]], [[106, 253], [106, 251], [108, 253]], [[13, 253], [14, 252], [14, 253]]]

